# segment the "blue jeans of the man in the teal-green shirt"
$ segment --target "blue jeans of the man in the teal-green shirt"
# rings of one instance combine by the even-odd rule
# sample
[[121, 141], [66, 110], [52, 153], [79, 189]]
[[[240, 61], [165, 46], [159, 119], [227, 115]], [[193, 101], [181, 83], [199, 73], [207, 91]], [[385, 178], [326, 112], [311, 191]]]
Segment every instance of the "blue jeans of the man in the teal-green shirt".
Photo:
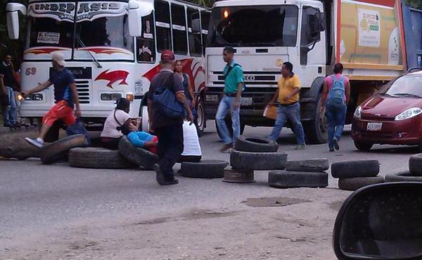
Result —
[[[236, 138], [241, 135], [241, 108], [238, 107], [234, 109], [233, 102], [235, 99], [236, 97], [227, 97], [224, 95], [218, 106], [217, 114], [215, 115], [215, 120], [217, 121], [217, 126], [222, 134], [224, 144], [234, 143]], [[240, 101], [241, 100], [239, 100], [239, 102]], [[231, 127], [233, 128], [233, 137], [230, 136], [225, 120], [226, 114], [229, 111], [231, 116]]]

